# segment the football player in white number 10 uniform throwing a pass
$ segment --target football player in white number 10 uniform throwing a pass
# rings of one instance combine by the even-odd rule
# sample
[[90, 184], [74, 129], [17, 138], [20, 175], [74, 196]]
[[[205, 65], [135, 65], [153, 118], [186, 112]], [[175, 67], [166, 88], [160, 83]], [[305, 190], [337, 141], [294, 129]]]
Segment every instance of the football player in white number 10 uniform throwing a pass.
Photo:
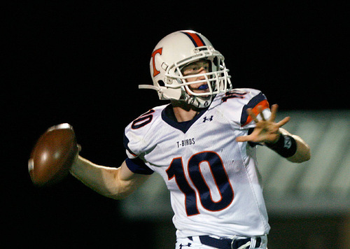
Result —
[[269, 224], [256, 145], [290, 162], [310, 150], [275, 122], [262, 92], [232, 89], [224, 57], [202, 34], [176, 31], [151, 55], [153, 85], [170, 104], [125, 128], [127, 159], [117, 168], [77, 157], [71, 173], [106, 197], [123, 199], [153, 173], [171, 194], [176, 248], [266, 248]]

